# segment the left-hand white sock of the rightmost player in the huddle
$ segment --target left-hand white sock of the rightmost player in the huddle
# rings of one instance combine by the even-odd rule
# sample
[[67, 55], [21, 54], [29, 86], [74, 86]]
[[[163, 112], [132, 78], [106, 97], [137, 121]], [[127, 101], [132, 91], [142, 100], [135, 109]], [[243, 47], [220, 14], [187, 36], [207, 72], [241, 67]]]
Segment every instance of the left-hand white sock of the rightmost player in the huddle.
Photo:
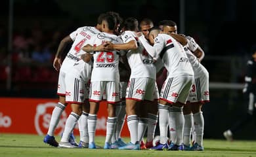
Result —
[[192, 114], [184, 115], [184, 133], [183, 133], [183, 143], [186, 146], [190, 145], [190, 137], [192, 133], [193, 116]]

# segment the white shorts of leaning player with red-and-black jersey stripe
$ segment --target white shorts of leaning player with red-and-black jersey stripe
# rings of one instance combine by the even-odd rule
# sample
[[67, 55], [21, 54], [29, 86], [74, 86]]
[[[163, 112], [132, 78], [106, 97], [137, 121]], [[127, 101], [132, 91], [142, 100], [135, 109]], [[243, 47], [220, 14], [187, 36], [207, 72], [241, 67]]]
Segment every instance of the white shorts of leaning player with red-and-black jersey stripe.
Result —
[[186, 103], [190, 92], [193, 75], [184, 75], [181, 77], [167, 77], [161, 88], [160, 99], [167, 103]]

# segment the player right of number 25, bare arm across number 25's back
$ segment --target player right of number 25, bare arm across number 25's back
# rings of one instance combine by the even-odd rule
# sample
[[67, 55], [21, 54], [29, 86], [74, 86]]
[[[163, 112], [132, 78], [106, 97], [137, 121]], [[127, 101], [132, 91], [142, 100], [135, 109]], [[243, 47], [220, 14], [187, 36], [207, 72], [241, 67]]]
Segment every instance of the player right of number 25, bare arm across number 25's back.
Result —
[[[131, 76], [126, 92], [126, 113], [127, 124], [130, 131], [131, 142], [119, 149], [140, 149], [144, 131], [146, 130], [146, 118], [139, 118], [139, 109], [143, 100], [152, 101], [156, 84], [156, 71], [153, 65], [153, 58], [142, 47], [137, 39], [138, 21], [135, 18], [127, 18], [123, 24], [124, 32], [121, 35], [124, 44], [108, 44], [110, 48], [128, 50], [127, 59], [131, 67]], [[147, 114], [147, 111], [145, 112]], [[139, 122], [143, 122], [142, 131]]]

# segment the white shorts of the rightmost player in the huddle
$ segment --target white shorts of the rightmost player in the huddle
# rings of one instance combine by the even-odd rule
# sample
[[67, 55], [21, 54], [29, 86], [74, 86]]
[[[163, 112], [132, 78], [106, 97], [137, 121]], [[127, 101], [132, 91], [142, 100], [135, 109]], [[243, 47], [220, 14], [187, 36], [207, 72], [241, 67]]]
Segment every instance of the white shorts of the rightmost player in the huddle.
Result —
[[209, 74], [205, 73], [194, 79], [190, 94], [188, 95], [190, 103], [209, 102]]

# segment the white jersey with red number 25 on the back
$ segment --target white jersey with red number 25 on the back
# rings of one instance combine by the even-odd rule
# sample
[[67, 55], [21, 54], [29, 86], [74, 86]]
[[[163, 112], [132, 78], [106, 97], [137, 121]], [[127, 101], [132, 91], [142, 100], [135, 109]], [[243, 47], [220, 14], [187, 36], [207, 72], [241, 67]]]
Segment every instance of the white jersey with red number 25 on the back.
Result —
[[[96, 36], [94, 46], [110, 41], [114, 44], [122, 44], [119, 37], [109, 33], [100, 33]], [[120, 52], [94, 52], [93, 71], [91, 82], [93, 81], [117, 81], [119, 82], [119, 55]]]

